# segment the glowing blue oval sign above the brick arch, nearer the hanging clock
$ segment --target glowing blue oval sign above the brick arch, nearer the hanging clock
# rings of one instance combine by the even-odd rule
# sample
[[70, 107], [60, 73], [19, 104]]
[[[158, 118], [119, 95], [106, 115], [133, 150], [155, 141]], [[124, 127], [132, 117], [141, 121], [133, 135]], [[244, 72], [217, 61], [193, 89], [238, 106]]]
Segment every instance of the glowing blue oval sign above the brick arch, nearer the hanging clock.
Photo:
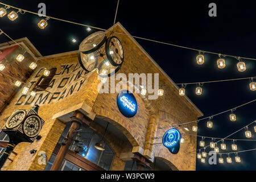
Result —
[[129, 90], [119, 92], [117, 106], [119, 111], [127, 118], [134, 117], [138, 109], [136, 98]]

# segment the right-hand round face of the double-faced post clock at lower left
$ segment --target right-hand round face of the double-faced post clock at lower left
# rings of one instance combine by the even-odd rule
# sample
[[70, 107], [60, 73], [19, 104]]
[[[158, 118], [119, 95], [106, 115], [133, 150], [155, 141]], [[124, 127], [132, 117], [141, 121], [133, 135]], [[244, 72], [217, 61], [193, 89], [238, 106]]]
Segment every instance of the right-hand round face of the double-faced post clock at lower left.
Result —
[[42, 129], [42, 122], [36, 115], [31, 115], [23, 123], [23, 131], [27, 137], [36, 137]]

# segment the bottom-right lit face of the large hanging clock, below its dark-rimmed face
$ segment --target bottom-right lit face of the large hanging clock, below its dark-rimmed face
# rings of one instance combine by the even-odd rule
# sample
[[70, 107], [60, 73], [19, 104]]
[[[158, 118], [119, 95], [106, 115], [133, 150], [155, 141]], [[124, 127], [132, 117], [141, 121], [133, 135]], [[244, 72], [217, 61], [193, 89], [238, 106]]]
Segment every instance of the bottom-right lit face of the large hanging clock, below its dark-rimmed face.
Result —
[[98, 65], [97, 73], [101, 77], [109, 77], [112, 74], [116, 73], [119, 69], [119, 66], [115, 67], [110, 64], [109, 60], [105, 59], [101, 61], [100, 65]]

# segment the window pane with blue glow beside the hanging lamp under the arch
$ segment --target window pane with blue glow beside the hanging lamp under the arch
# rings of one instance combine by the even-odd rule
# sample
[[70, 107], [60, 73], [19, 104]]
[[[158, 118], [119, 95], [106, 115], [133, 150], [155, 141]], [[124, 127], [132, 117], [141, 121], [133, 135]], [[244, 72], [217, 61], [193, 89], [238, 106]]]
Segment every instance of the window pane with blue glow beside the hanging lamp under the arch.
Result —
[[97, 142], [100, 142], [100, 140], [101, 138], [98, 135], [96, 134], [93, 135], [92, 141], [90, 142], [90, 146], [88, 149], [88, 153], [85, 156], [86, 159], [90, 160], [94, 164], [97, 164], [101, 154], [101, 150], [98, 150], [97, 148], [94, 147]]

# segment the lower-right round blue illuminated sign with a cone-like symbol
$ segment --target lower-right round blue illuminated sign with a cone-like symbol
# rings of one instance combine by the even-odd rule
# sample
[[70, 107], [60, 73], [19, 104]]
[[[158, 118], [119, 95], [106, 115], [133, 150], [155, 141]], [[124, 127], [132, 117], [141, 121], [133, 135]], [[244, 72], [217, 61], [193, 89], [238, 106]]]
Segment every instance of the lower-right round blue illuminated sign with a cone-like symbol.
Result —
[[177, 154], [180, 149], [181, 135], [179, 130], [170, 129], [163, 135], [163, 145], [168, 148], [172, 154]]

